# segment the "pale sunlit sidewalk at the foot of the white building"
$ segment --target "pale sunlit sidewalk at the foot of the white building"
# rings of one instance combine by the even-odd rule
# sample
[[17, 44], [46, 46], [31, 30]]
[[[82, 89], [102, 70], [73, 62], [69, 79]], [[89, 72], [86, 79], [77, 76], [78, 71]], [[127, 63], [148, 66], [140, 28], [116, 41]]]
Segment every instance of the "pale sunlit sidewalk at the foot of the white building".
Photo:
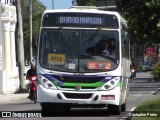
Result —
[[0, 94], [0, 104], [15, 103], [19, 100], [26, 100], [28, 93], [8, 93]]

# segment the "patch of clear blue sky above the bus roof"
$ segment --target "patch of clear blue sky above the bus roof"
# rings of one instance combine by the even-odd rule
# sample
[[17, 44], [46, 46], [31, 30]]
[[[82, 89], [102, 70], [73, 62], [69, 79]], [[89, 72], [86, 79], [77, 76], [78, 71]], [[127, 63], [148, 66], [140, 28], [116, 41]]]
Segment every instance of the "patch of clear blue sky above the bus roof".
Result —
[[64, 9], [72, 6], [72, 0], [39, 0], [47, 9]]

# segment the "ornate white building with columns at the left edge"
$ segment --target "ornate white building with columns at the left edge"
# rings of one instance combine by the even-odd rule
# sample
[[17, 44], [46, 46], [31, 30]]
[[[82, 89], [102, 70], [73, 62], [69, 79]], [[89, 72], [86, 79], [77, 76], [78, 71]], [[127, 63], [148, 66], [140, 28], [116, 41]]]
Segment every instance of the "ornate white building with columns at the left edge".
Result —
[[0, 2], [0, 94], [19, 90], [16, 67], [15, 24], [17, 21], [14, 0]]

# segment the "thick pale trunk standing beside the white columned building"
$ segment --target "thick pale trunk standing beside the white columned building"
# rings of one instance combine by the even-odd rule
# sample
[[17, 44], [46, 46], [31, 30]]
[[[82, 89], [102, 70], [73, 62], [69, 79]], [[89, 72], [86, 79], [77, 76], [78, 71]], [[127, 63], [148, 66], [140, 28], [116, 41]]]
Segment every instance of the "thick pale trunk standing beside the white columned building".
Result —
[[20, 79], [20, 89], [26, 89], [24, 79], [24, 44], [23, 44], [23, 23], [21, 14], [21, 2], [17, 0], [18, 34], [17, 34], [17, 58]]

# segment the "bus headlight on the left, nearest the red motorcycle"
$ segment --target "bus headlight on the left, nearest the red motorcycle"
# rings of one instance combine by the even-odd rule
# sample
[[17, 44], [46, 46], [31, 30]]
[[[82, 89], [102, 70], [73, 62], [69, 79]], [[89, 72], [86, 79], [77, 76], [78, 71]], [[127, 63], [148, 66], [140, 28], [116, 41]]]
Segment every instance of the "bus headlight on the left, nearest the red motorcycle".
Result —
[[57, 89], [51, 81], [41, 75], [38, 76], [38, 80], [40, 81], [41, 85], [47, 89]]

